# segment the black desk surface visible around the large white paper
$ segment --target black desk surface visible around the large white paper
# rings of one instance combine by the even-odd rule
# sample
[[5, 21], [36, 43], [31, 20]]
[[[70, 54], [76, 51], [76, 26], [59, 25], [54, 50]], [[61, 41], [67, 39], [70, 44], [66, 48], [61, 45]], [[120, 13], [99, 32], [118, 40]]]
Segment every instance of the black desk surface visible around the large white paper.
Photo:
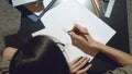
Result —
[[[101, 18], [107, 22], [109, 26], [117, 30], [114, 37], [107, 45], [129, 52], [130, 48], [127, 21], [127, 1], [116, 0], [111, 17], [107, 18], [105, 16], [101, 16]], [[23, 38], [24, 40], [29, 40], [31, 38], [31, 34], [41, 28], [44, 28], [41, 22], [32, 23], [29, 18], [23, 17], [22, 27], [20, 30], [20, 39], [22, 41]], [[91, 63], [94, 66], [89, 70], [89, 74], [99, 74], [119, 66], [114, 61], [102, 53], [98, 53]]]

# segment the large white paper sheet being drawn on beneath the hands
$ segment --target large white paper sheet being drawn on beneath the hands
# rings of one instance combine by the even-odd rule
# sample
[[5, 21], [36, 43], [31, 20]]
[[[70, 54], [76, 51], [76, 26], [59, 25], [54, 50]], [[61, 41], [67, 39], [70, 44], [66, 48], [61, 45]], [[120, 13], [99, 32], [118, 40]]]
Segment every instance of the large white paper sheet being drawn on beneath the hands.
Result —
[[[76, 0], [68, 0], [53, 8], [41, 21], [46, 28], [34, 33], [33, 36], [50, 35], [57, 38], [67, 46], [66, 52], [68, 53], [69, 61], [85, 54], [78, 48], [72, 46], [70, 37], [66, 33], [66, 30], [70, 30], [75, 24], [87, 27], [91, 37], [102, 44], [107, 44], [116, 34], [114, 29]], [[92, 60], [96, 54], [87, 55]]]

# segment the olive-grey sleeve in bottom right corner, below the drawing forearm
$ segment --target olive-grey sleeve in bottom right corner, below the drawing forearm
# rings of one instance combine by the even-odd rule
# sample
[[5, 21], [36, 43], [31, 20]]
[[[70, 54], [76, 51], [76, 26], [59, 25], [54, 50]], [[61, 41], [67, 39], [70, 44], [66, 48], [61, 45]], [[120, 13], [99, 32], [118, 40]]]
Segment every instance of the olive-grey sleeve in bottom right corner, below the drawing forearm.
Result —
[[125, 65], [123, 67], [117, 67], [114, 71], [108, 71], [105, 74], [132, 74], [132, 65]]

